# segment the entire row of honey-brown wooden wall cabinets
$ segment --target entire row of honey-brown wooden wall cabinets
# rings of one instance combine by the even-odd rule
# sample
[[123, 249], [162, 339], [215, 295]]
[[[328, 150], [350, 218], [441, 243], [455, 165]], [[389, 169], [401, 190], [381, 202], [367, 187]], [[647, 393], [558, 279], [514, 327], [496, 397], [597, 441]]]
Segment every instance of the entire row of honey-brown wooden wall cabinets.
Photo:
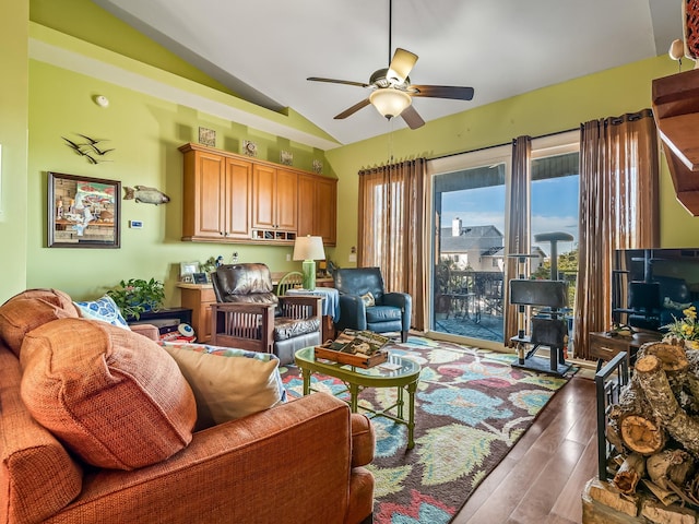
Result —
[[337, 180], [189, 143], [182, 240], [292, 245], [297, 235], [335, 245]]

